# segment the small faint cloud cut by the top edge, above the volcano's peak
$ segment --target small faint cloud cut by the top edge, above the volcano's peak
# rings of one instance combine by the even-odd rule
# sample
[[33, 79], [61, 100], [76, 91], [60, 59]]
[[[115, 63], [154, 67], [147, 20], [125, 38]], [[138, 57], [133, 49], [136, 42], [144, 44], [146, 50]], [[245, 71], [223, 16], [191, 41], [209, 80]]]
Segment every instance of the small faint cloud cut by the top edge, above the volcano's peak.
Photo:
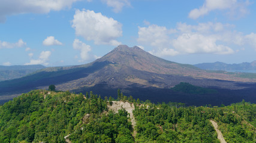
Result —
[[124, 6], [131, 6], [131, 3], [129, 2], [129, 0], [101, 0], [104, 3], [107, 4], [107, 6], [112, 7], [113, 11], [115, 13], [119, 13], [120, 11], [122, 11], [122, 8]]

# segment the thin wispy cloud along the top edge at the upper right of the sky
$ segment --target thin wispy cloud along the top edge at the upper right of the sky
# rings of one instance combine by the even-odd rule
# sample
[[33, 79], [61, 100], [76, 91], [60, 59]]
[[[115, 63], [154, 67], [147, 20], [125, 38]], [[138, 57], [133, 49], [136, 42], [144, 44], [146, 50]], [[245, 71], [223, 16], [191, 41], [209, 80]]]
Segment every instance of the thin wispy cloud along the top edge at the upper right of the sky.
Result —
[[246, 9], [248, 5], [249, 1], [247, 0], [242, 2], [237, 2], [237, 0], [206, 0], [203, 6], [191, 10], [188, 17], [197, 19], [213, 10], [229, 10], [229, 15], [241, 17], [249, 13]]

